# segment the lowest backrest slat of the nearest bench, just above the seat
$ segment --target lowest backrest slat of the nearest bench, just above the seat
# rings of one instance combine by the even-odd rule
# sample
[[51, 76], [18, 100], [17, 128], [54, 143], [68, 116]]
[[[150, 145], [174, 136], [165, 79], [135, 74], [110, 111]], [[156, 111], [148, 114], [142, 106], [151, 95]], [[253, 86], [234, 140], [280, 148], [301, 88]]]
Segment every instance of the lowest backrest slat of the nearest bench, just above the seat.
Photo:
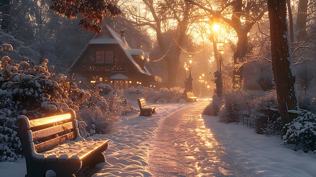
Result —
[[56, 138], [51, 139], [49, 141], [45, 141], [43, 143], [36, 144], [35, 150], [36, 150], [36, 152], [42, 152], [42, 151], [44, 151], [52, 146], [59, 145], [62, 142], [65, 142], [67, 140], [71, 140], [74, 138], [75, 138], [75, 132], [70, 132], [68, 134], [65, 134], [65, 135], [60, 136], [60, 137], [56, 137]]

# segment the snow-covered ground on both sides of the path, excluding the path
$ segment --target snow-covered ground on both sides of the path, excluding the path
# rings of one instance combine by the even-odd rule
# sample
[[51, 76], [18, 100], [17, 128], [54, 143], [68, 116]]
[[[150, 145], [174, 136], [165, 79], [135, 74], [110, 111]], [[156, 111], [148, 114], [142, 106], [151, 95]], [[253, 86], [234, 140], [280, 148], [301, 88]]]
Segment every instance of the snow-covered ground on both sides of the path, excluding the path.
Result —
[[[133, 103], [138, 107], [136, 102]], [[150, 152], [154, 148], [155, 130], [164, 122], [165, 117], [173, 112], [192, 104], [206, 105], [206, 103], [207, 100], [155, 104], [157, 113], [153, 116], [124, 115], [120, 132], [113, 135], [99, 135], [109, 138], [110, 144], [105, 153], [106, 162], [97, 164], [102, 170], [93, 176], [151, 176], [152, 172], [148, 168]], [[304, 153], [301, 150], [294, 151], [293, 146], [280, 145], [282, 142], [280, 137], [255, 134], [253, 129], [242, 124], [219, 123], [218, 117], [215, 116], [201, 117], [205, 128], [209, 129], [207, 134], [214, 136], [230, 158], [250, 175], [316, 176], [315, 154]], [[207, 154], [200, 154], [201, 158], [205, 155]], [[25, 173], [24, 159], [18, 162], [0, 162], [1, 176], [18, 177], [24, 176]]]

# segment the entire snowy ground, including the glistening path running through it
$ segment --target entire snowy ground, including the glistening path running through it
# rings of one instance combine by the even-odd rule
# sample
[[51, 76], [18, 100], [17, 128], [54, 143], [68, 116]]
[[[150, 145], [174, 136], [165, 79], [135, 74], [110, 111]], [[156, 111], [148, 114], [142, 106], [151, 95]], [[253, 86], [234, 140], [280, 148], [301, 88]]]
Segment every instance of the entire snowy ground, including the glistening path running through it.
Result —
[[[138, 107], [136, 101], [131, 102]], [[256, 134], [241, 123], [225, 124], [218, 116], [201, 115], [207, 104], [206, 99], [153, 104], [156, 113], [152, 116], [122, 116], [117, 133], [94, 135], [106, 137], [110, 143], [104, 153], [106, 162], [97, 164], [101, 169], [92, 176], [316, 175], [315, 154], [281, 145], [279, 136]], [[197, 128], [192, 128], [195, 124]], [[24, 159], [0, 162], [1, 176], [25, 173]], [[54, 172], [46, 176], [54, 176]]]

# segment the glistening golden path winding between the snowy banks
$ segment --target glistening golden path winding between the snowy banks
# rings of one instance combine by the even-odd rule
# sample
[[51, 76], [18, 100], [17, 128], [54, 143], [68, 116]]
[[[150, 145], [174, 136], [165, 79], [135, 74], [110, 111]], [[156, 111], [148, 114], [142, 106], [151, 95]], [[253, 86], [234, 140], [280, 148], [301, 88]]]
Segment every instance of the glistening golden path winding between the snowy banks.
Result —
[[149, 152], [153, 176], [251, 176], [239, 170], [205, 128], [201, 112], [207, 104], [204, 100], [162, 120]]

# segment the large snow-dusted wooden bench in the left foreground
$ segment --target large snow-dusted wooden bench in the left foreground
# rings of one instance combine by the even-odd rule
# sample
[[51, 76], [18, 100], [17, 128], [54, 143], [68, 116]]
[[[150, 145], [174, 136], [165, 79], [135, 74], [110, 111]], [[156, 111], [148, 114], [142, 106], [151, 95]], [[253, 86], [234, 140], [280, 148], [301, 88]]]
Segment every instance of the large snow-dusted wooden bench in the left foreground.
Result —
[[17, 123], [26, 161], [25, 177], [42, 177], [47, 170], [55, 171], [57, 177], [70, 177], [82, 166], [94, 167], [105, 161], [102, 152], [109, 140], [82, 138], [72, 109], [33, 120], [20, 115]]

